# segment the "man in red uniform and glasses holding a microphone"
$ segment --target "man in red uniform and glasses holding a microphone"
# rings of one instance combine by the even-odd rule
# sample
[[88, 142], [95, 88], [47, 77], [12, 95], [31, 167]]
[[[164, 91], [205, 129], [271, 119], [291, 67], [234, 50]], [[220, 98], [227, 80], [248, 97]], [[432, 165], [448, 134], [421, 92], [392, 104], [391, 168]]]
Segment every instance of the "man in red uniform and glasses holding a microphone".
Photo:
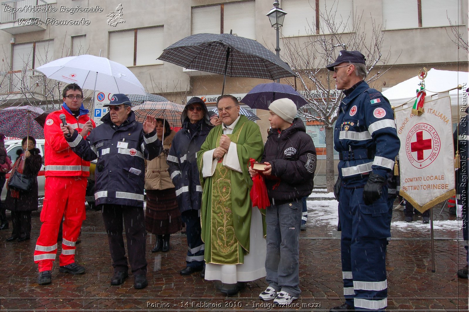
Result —
[[57, 253], [57, 235], [62, 217], [62, 252], [60, 272], [83, 274], [85, 268], [75, 263], [75, 244], [85, 219], [86, 177], [90, 162], [78, 157], [70, 148], [61, 130], [60, 115], [81, 136], [86, 137], [95, 123], [83, 107], [83, 91], [78, 84], [68, 84], [62, 91], [63, 105], [45, 120], [45, 194], [41, 211], [41, 232], [34, 251], [39, 267], [38, 284], [52, 281], [52, 265]]

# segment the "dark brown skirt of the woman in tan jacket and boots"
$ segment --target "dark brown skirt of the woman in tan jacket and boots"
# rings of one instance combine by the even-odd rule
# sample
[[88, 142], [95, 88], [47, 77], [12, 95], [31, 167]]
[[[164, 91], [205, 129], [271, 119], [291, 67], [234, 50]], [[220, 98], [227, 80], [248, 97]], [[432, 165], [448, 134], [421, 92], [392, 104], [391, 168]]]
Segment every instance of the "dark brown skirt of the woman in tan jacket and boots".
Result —
[[173, 234], [182, 229], [175, 189], [146, 190], [145, 228], [155, 235]]

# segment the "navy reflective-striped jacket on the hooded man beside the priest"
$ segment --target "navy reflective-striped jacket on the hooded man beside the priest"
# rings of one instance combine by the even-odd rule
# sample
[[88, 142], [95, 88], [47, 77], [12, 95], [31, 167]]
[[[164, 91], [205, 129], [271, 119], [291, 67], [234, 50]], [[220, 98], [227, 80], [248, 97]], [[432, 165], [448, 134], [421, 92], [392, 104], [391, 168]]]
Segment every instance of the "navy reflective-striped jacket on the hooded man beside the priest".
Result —
[[174, 136], [166, 158], [181, 212], [190, 209], [200, 210], [202, 186], [200, 186], [196, 154], [200, 151], [200, 146], [205, 142], [210, 129], [213, 128], [204, 118], [197, 123], [195, 130], [190, 130], [189, 127], [189, 119], [186, 118], [182, 129]]

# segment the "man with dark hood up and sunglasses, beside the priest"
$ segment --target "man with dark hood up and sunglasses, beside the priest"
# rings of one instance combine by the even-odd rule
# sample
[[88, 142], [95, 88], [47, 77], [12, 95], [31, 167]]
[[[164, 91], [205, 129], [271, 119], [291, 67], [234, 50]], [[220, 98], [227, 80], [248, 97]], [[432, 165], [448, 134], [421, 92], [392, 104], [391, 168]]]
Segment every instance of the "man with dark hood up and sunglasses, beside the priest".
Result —
[[182, 129], [174, 136], [167, 162], [182, 221], [186, 224], [188, 251], [186, 267], [180, 274], [189, 275], [204, 269], [204, 242], [200, 227], [202, 186], [197, 169], [197, 152], [213, 125], [204, 101], [197, 97], [189, 99], [181, 120]]

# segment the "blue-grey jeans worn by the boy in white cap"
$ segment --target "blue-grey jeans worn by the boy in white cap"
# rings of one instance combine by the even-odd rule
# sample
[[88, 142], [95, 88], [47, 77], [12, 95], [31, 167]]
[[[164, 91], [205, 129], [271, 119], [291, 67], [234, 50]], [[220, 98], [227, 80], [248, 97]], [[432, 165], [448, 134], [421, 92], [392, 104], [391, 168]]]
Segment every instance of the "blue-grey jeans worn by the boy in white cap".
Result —
[[299, 297], [299, 236], [302, 202], [293, 201], [265, 209], [267, 224], [267, 254], [265, 280], [277, 291], [283, 290]]

